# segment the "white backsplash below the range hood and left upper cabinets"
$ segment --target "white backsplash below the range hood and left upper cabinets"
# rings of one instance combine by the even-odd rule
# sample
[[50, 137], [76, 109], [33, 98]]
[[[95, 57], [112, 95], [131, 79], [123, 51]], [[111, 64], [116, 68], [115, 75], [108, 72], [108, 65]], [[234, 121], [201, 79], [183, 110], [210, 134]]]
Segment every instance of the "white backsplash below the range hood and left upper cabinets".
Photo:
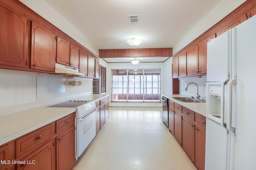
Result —
[[[72, 80], [81, 81], [82, 86], [70, 86]], [[92, 94], [92, 79], [0, 69], [0, 115], [4, 107], [76, 94]]]

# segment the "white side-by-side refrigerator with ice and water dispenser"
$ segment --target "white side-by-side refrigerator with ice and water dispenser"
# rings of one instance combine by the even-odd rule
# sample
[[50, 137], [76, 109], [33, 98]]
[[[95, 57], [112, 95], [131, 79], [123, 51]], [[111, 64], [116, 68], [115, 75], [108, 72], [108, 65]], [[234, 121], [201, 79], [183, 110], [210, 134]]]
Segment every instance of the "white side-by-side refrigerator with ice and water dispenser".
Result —
[[256, 170], [256, 16], [207, 44], [205, 170]]

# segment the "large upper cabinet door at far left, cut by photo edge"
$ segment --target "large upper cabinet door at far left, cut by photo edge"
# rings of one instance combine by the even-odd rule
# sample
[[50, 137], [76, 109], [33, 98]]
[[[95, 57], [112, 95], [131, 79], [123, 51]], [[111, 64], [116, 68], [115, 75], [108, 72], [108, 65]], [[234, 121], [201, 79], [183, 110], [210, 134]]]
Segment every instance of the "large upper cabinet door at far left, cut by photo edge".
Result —
[[30, 22], [0, 4], [0, 64], [27, 68]]

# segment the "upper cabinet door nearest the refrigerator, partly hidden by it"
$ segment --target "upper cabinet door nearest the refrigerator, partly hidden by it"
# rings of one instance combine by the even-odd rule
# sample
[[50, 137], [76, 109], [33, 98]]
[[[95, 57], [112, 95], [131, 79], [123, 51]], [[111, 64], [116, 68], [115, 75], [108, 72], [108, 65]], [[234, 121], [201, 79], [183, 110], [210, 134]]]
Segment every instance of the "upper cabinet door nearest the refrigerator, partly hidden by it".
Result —
[[204, 39], [201, 43], [198, 44], [198, 73], [206, 74], [207, 72], [207, 43], [211, 38], [215, 38], [215, 34]]

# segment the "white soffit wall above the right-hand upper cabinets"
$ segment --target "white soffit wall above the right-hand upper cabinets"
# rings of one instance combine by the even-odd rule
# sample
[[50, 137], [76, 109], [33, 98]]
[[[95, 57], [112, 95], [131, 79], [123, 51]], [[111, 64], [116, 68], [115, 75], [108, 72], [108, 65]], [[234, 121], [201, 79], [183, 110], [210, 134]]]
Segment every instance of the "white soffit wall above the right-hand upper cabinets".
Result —
[[222, 0], [172, 48], [177, 53], [246, 0]]

